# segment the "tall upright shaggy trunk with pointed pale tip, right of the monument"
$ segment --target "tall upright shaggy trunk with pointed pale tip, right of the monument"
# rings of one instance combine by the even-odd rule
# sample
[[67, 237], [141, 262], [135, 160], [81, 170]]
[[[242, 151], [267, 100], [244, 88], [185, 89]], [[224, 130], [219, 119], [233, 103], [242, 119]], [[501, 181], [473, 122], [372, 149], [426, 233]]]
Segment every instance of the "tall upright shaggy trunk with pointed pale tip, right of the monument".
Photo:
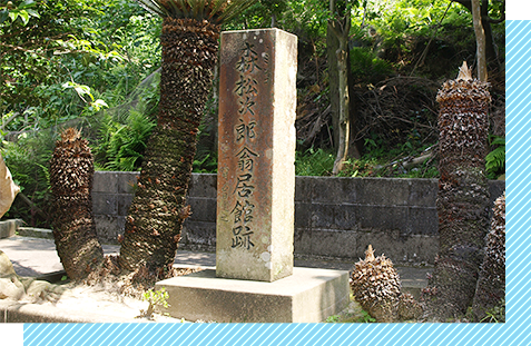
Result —
[[423, 298], [429, 315], [444, 320], [472, 305], [489, 229], [488, 83], [472, 79], [463, 63], [458, 79], [439, 90], [437, 102], [440, 248]]

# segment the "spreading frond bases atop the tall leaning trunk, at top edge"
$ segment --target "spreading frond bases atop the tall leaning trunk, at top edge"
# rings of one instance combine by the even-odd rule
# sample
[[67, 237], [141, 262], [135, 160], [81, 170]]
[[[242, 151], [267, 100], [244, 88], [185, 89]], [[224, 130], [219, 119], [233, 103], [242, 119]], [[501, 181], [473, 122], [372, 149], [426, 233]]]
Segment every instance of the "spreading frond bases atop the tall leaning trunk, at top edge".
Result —
[[223, 24], [240, 14], [258, 0], [137, 0], [154, 14], [163, 18], [191, 18]]

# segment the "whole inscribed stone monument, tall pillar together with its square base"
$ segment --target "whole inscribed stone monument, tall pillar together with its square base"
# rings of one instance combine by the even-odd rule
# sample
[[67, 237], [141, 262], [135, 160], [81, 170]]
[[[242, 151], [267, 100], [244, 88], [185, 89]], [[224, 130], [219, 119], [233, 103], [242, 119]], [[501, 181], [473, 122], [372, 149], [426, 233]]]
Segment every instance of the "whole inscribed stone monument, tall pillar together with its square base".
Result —
[[315, 323], [348, 305], [348, 271], [293, 267], [297, 38], [222, 33], [216, 268], [156, 284], [189, 320]]

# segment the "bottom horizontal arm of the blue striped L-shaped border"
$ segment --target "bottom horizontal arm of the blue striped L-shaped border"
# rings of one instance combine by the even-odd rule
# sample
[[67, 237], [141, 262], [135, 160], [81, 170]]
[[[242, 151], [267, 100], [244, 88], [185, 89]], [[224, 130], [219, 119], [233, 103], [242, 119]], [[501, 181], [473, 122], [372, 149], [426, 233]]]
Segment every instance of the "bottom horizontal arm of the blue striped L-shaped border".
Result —
[[528, 345], [507, 324], [28, 324], [24, 345]]

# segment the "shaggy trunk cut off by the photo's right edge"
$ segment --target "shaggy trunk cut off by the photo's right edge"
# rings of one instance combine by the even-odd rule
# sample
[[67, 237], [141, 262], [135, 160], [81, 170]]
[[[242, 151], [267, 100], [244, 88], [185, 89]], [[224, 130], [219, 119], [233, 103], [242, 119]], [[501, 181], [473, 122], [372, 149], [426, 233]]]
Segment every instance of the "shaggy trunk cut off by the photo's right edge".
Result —
[[473, 312], [478, 320], [505, 299], [505, 192], [494, 201], [491, 230], [481, 265]]

